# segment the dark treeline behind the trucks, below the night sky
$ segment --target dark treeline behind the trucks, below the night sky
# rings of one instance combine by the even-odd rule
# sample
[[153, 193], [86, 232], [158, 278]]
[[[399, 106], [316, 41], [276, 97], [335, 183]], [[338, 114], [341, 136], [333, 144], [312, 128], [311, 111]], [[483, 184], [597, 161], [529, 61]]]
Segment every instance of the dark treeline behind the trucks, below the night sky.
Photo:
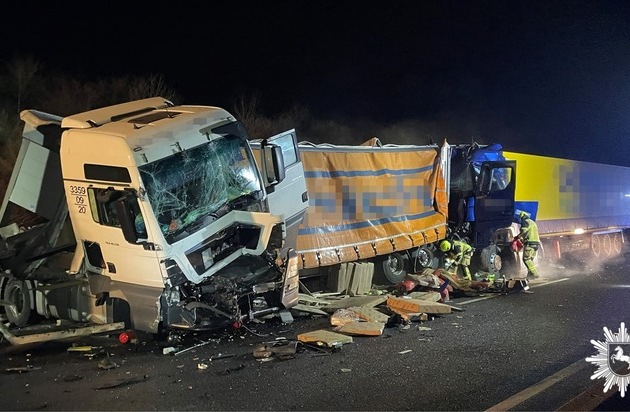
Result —
[[[160, 74], [77, 78], [51, 71], [32, 57], [0, 65], [0, 194], [7, 186], [21, 141], [20, 111], [36, 109], [63, 117], [153, 96], [162, 96], [175, 104], [215, 105], [210, 100], [180, 101], [178, 91]], [[268, 113], [257, 91], [235, 95], [225, 109], [245, 124], [252, 139], [296, 129], [301, 141], [312, 143], [361, 144], [372, 137], [378, 137], [384, 144], [440, 143], [447, 136], [459, 134], [448, 125], [461, 123], [449, 122], [444, 117], [434, 122], [409, 120], [386, 126], [369, 119], [320, 119], [313, 116], [307, 105], [297, 103], [280, 113]]]

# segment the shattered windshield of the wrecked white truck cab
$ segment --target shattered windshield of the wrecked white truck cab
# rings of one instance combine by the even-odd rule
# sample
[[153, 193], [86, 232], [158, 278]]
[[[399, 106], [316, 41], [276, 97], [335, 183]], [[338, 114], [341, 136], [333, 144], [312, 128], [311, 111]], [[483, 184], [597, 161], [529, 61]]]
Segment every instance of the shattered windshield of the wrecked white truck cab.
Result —
[[[149, 202], [167, 242], [173, 243], [232, 208], [262, 195], [247, 140], [227, 135], [141, 166]], [[239, 201], [236, 201], [239, 199]], [[240, 200], [243, 200], [242, 202]]]

